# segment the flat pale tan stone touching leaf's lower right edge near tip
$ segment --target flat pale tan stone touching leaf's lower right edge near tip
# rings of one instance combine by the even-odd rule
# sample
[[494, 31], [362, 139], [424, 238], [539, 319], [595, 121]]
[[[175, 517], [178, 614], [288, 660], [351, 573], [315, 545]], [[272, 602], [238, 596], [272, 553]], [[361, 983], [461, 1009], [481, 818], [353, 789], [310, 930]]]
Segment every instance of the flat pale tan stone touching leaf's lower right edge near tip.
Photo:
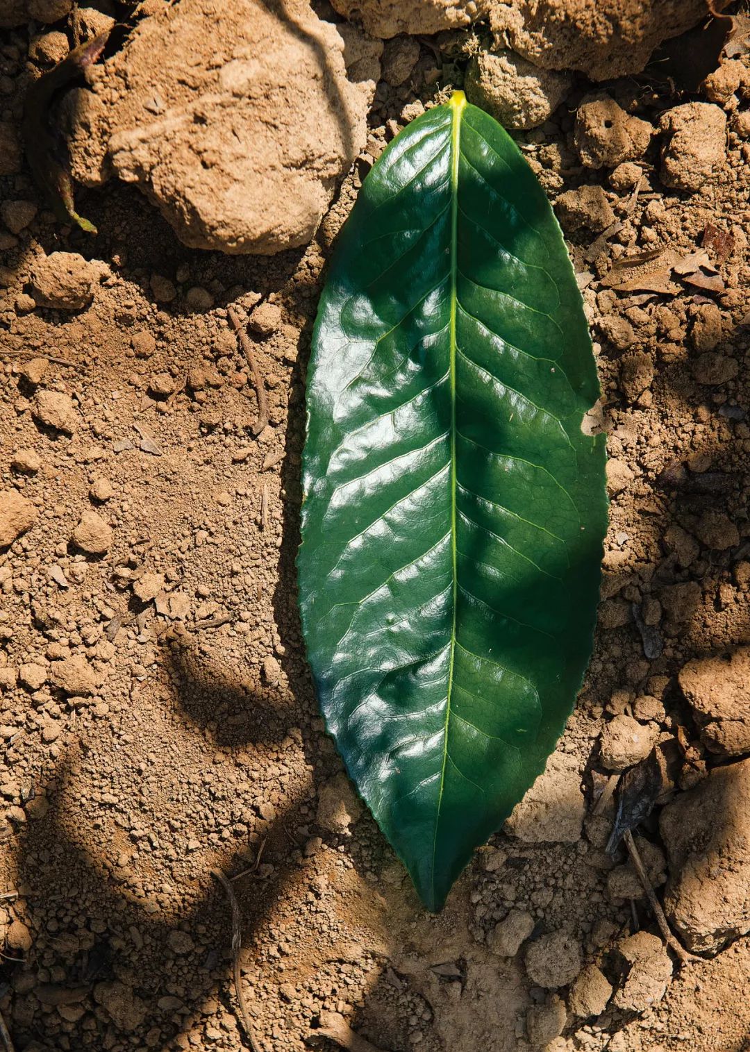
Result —
[[574, 844], [585, 813], [581, 769], [574, 756], [553, 752], [543, 774], [505, 823], [505, 831], [526, 844]]

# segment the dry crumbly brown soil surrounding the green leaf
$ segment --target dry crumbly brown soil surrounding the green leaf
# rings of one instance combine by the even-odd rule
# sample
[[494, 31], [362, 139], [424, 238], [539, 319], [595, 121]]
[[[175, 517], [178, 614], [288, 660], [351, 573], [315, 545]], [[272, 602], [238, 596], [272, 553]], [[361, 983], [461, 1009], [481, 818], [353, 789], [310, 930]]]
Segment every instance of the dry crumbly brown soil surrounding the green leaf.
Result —
[[[746, 775], [707, 777], [746, 747], [717, 751], [706, 719], [728, 719], [725, 666], [745, 704], [726, 655], [750, 643], [747, 78], [682, 97], [658, 70], [595, 94], [579, 78], [518, 135], [562, 198], [595, 340], [603, 603], [547, 773], [432, 917], [323, 732], [293, 560], [331, 243], [372, 160], [460, 86], [479, 38], [386, 45], [364, 150], [313, 240], [262, 257], [187, 248], [115, 181], [78, 193], [98, 236], [55, 221], [15, 129], [74, 29], [24, 22], [0, 46], [0, 1012], [16, 1052], [249, 1048], [211, 869], [237, 877], [263, 1052], [316, 1031], [333, 1049], [322, 1034], [343, 1020], [390, 1052], [746, 1049]], [[696, 103], [710, 109], [674, 113]], [[268, 397], [260, 434], [229, 307]], [[678, 930], [715, 954], [683, 968], [623, 850], [604, 850], [617, 772], [654, 740], [676, 757], [677, 810], [640, 849]], [[710, 908], [686, 919], [696, 881]]]

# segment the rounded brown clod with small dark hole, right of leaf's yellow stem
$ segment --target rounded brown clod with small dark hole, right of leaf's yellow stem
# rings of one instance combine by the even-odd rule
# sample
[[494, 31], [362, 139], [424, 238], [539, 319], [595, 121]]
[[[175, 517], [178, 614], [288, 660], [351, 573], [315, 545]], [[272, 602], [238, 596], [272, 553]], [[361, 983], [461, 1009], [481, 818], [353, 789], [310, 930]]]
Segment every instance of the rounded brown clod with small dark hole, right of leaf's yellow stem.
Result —
[[600, 96], [579, 106], [573, 134], [579, 157], [587, 168], [613, 168], [643, 157], [653, 127], [627, 114], [609, 96]]

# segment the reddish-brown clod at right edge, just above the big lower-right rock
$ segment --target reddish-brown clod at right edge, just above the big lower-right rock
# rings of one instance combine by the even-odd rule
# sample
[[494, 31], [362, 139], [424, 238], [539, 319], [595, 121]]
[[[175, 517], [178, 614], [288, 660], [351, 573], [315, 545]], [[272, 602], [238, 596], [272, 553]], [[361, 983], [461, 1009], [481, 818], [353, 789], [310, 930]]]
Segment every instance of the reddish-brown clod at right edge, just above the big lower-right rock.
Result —
[[707, 749], [722, 758], [750, 752], [750, 647], [696, 658], [677, 683]]

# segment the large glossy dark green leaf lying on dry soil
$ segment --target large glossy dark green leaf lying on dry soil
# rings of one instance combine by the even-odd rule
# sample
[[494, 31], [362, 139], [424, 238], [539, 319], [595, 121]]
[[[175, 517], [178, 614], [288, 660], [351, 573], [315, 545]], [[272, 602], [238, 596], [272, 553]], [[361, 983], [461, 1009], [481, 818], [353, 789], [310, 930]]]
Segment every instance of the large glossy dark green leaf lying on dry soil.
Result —
[[307, 381], [300, 602], [327, 727], [425, 906], [545, 766], [606, 529], [596, 369], [560, 227], [462, 93], [339, 240]]

